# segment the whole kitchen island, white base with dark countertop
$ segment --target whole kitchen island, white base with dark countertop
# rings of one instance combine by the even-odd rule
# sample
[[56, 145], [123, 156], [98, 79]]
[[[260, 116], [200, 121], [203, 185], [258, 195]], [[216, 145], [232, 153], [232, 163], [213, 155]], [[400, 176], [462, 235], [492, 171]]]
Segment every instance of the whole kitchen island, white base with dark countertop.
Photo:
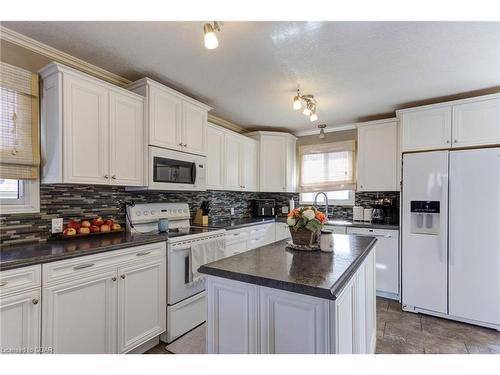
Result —
[[207, 352], [374, 353], [376, 239], [334, 241], [334, 253], [280, 241], [200, 267]]

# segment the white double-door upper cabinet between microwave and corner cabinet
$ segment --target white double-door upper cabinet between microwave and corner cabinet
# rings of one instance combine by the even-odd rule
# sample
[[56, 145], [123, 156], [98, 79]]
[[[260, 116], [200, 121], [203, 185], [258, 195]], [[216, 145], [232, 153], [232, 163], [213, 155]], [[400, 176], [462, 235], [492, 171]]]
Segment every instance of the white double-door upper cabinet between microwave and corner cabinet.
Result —
[[257, 141], [209, 124], [207, 188], [257, 191]]

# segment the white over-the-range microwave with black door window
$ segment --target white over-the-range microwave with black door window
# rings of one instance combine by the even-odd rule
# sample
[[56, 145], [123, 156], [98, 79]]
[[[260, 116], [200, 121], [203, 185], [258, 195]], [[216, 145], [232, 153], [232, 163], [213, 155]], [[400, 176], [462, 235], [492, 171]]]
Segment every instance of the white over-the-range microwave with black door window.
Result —
[[206, 157], [149, 146], [148, 189], [206, 190]]

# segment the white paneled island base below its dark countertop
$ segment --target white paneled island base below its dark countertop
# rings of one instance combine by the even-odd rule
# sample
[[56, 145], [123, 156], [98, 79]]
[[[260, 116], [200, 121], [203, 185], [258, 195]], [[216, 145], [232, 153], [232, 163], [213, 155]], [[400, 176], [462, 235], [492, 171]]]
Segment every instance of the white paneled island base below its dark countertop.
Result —
[[334, 301], [208, 276], [208, 353], [374, 353], [374, 259]]

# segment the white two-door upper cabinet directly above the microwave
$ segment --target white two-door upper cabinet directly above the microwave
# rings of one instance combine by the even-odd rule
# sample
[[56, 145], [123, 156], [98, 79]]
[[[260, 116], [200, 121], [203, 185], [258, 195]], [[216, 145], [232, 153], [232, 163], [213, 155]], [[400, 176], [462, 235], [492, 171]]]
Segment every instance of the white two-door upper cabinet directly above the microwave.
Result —
[[207, 154], [207, 114], [209, 106], [149, 78], [127, 88], [146, 98], [147, 144]]

